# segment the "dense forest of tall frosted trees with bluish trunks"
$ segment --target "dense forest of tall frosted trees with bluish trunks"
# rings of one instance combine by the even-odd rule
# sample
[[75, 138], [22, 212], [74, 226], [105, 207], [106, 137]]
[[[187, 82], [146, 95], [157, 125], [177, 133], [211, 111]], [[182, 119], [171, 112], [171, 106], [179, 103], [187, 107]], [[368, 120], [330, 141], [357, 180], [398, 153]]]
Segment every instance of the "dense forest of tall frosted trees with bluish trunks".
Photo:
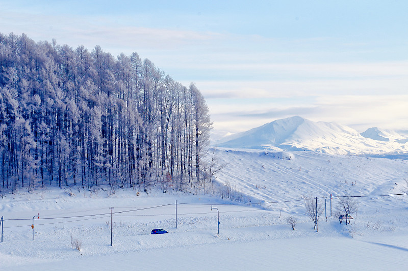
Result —
[[[212, 123], [197, 87], [137, 53], [0, 33], [0, 192], [200, 189]], [[210, 173], [210, 174], [209, 174]]]

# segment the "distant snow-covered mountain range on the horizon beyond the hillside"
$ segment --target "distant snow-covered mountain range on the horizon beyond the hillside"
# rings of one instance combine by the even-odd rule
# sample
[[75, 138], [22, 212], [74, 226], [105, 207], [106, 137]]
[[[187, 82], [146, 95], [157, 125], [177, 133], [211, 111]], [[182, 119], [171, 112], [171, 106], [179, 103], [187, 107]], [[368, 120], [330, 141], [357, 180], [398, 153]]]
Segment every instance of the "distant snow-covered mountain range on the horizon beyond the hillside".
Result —
[[392, 131], [369, 129], [362, 135], [337, 123], [316, 123], [293, 116], [225, 137], [217, 145], [232, 148], [313, 150], [341, 155], [408, 155], [407, 141]]

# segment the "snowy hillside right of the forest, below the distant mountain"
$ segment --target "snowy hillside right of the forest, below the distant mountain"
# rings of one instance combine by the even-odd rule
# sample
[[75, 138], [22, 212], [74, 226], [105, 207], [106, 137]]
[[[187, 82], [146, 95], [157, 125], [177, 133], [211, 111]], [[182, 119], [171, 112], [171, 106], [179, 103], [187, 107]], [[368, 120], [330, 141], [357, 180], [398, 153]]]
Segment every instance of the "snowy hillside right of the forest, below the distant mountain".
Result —
[[226, 165], [218, 180], [256, 202], [399, 193], [408, 179], [408, 160], [230, 148], [218, 148], [216, 154]]

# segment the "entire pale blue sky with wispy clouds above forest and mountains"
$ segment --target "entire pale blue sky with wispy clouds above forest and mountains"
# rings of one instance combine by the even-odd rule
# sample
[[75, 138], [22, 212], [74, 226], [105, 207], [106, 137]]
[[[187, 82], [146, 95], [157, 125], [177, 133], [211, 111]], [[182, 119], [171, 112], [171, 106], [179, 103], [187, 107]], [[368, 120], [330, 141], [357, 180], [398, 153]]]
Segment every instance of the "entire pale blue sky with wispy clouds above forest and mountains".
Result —
[[214, 131], [300, 115], [408, 130], [407, 1], [3, 1], [0, 32], [138, 52], [206, 97]]

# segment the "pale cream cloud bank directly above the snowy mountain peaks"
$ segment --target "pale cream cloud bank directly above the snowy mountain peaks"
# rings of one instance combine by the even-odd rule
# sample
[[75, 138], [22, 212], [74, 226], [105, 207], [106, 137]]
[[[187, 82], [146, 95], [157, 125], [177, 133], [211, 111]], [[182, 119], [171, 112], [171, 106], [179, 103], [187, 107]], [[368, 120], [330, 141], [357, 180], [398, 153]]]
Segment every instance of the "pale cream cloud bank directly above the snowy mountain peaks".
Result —
[[214, 112], [215, 129], [227, 127], [231, 132], [242, 132], [293, 115], [315, 122], [337, 122], [359, 132], [374, 126], [401, 130], [408, 127], [408, 95], [319, 96], [288, 99], [288, 102], [266, 99], [263, 103], [246, 104], [245, 99], [236, 99], [230, 102], [225, 107], [209, 102]]

